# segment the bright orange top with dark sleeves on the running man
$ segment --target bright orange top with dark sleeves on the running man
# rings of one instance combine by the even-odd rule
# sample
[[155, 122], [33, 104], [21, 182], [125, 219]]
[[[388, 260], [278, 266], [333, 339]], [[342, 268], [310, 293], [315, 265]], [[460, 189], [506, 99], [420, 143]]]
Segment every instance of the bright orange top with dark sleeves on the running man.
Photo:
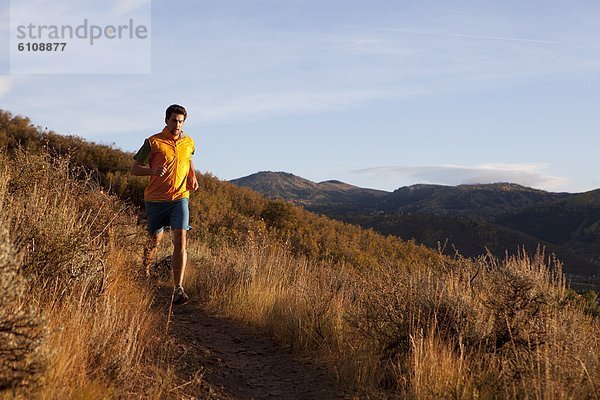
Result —
[[190, 173], [194, 140], [183, 132], [177, 140], [165, 127], [162, 132], [150, 136], [133, 157], [136, 161], [157, 168], [167, 167], [163, 176], [150, 176], [150, 183], [144, 190], [146, 201], [173, 201], [190, 197], [188, 174]]

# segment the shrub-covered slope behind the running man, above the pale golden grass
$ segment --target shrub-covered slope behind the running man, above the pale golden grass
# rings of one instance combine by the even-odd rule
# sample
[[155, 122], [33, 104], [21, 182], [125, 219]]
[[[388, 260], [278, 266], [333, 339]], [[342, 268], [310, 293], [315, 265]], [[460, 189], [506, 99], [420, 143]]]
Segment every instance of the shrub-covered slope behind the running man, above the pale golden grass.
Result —
[[[29, 119], [13, 117], [7, 112], [0, 112], [0, 148], [9, 152], [18, 148], [34, 153], [48, 151], [68, 157], [72, 164], [87, 171], [82, 178], [96, 180], [121, 199], [140, 207], [143, 218], [141, 205], [147, 178], [130, 175], [130, 153], [74, 136], [42, 132]], [[297, 181], [305, 184], [303, 180]], [[282, 201], [268, 200], [210, 174], [200, 175], [199, 183], [200, 189], [190, 198], [193, 238], [221, 244], [268, 235], [273, 241], [288, 243], [295, 254], [350, 263], [359, 268], [408, 254], [437, 257], [425, 247], [330, 220]]]

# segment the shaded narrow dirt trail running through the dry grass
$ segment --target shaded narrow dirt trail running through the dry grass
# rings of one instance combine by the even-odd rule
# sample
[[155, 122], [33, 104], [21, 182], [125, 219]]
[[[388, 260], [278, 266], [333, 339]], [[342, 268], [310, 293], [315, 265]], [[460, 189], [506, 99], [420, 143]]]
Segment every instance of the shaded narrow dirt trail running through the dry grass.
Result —
[[[159, 290], [167, 312], [171, 290]], [[182, 371], [202, 370], [200, 399], [352, 398], [322, 367], [294, 358], [289, 350], [252, 328], [203, 310], [196, 302], [174, 306], [169, 327]]]

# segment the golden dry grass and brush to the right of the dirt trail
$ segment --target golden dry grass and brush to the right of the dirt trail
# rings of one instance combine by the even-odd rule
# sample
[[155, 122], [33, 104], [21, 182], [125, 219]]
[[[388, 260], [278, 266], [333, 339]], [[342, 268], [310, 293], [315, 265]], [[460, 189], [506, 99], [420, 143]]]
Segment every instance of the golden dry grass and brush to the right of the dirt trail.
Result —
[[599, 395], [598, 320], [565, 301], [560, 265], [541, 253], [357, 273], [264, 238], [189, 252], [193, 295], [327, 363], [360, 396]]

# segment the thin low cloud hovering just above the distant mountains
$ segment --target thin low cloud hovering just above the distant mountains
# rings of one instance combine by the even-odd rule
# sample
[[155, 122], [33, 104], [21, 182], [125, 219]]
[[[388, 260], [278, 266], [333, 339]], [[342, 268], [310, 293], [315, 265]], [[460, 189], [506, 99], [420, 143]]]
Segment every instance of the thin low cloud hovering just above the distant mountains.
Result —
[[546, 190], [562, 190], [569, 180], [546, 173], [547, 164], [480, 164], [480, 165], [426, 165], [382, 166], [353, 170], [354, 174], [375, 179], [441, 185], [482, 184], [511, 182]]

